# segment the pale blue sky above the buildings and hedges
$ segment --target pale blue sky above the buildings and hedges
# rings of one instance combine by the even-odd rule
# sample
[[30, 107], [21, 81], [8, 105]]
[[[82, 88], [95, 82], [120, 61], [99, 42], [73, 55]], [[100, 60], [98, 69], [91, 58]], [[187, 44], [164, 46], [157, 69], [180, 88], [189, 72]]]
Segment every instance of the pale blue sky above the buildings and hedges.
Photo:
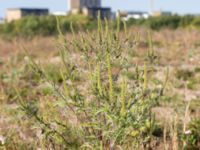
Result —
[[[150, 0], [102, 0], [103, 6], [112, 10], [142, 10], [149, 11]], [[154, 0], [155, 10], [166, 10], [200, 14], [200, 0]], [[0, 17], [4, 17], [6, 8], [15, 7], [45, 7], [50, 11], [67, 11], [67, 0], [0, 0]]]

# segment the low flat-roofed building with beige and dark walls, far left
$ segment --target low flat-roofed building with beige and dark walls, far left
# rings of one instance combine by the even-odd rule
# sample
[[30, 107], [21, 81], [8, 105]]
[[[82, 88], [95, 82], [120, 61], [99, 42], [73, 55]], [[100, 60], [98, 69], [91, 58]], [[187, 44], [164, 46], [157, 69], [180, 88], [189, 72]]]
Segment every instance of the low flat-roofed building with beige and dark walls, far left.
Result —
[[25, 16], [30, 16], [30, 15], [41, 16], [41, 15], [48, 15], [48, 14], [49, 14], [48, 9], [11, 8], [11, 9], [7, 9], [6, 11], [6, 21], [11, 22], [14, 20], [21, 19], [22, 17], [25, 17]]

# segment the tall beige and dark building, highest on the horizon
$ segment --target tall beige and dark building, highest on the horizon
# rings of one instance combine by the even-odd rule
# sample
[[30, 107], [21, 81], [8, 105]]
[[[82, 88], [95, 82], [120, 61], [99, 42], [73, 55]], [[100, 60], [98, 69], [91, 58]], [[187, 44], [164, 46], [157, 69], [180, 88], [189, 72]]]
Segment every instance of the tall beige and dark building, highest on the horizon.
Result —
[[101, 0], [69, 0], [71, 14], [84, 14], [93, 18], [97, 18], [100, 13], [101, 18], [110, 19], [111, 8], [101, 6]]

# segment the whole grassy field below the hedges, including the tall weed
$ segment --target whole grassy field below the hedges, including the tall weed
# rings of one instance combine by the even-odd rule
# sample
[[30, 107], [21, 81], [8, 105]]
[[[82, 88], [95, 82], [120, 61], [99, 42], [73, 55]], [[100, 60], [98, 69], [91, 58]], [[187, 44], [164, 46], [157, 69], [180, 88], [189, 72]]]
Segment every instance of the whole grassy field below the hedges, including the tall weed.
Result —
[[200, 32], [104, 32], [0, 40], [0, 149], [200, 148]]

